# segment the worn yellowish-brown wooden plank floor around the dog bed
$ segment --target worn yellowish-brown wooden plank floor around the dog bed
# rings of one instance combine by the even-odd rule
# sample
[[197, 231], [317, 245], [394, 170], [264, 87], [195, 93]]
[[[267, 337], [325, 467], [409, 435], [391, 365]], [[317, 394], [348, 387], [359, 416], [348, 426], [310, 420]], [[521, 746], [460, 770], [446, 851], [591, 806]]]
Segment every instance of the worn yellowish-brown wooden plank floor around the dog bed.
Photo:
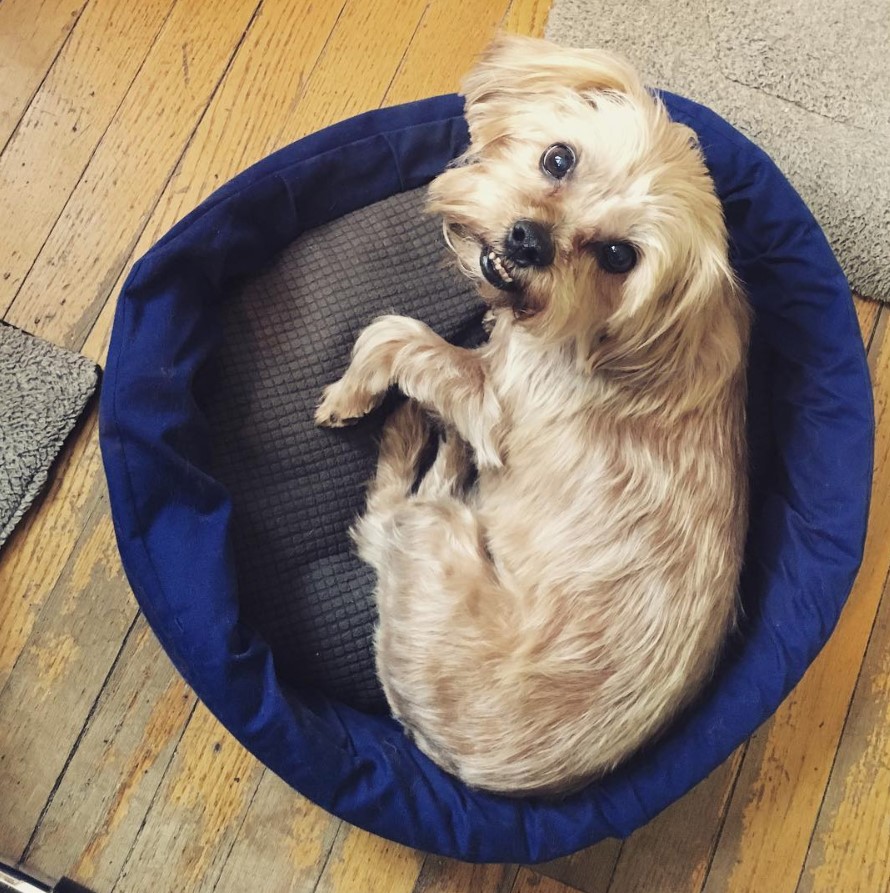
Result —
[[[132, 259], [271, 150], [452, 90], [545, 0], [0, 0], [0, 314], [101, 361]], [[0, 554], [0, 853], [96, 893], [885, 893], [890, 337], [857, 302], [878, 415], [867, 554], [774, 719], [624, 843], [532, 871], [341, 824], [196, 703], [124, 580], [93, 412]], [[539, 874], [539, 872], [543, 872]]]

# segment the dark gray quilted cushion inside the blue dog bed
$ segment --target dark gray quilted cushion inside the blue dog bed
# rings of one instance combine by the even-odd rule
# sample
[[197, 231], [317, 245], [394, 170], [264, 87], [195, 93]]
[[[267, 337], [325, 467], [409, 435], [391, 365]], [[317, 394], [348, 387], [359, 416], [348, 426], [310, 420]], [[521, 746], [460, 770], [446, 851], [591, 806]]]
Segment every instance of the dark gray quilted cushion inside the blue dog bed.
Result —
[[407, 313], [443, 337], [481, 337], [482, 305], [446, 263], [426, 190], [398, 193], [314, 229], [220, 307], [222, 339], [205, 368], [212, 468], [234, 505], [243, 619], [280, 678], [363, 710], [385, 710], [374, 671], [371, 569], [345, 533], [373, 474], [385, 408], [341, 431], [312, 421], [361, 328]]

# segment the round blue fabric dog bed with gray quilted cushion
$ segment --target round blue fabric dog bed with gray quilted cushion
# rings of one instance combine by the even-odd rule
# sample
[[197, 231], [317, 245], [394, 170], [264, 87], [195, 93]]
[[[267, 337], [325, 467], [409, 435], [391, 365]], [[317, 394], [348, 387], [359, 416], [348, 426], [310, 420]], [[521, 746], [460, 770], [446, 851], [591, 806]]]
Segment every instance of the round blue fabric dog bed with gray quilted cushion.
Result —
[[850, 292], [812, 216], [728, 124], [699, 134], [756, 311], [745, 618], [661, 738], [560, 801], [470, 790], [387, 715], [371, 573], [347, 528], [385, 409], [312, 426], [323, 384], [380, 312], [468, 344], [482, 308], [445, 262], [423, 189], [465, 145], [457, 96], [361, 115], [250, 168], [133, 268], [117, 307], [101, 445], [124, 567], [198, 696], [305, 796], [404, 844], [536, 862], [624, 837], [704, 778], [824, 644], [861, 560], [873, 410]]

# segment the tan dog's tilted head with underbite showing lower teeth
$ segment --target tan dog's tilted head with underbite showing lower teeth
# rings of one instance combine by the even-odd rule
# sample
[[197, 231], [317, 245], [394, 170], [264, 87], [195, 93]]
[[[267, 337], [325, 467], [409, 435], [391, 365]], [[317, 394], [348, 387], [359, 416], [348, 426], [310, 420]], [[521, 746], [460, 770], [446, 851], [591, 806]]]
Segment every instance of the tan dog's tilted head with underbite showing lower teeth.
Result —
[[694, 134], [627, 63], [501, 38], [464, 94], [470, 146], [431, 184], [430, 209], [494, 306], [593, 351], [732, 287]]

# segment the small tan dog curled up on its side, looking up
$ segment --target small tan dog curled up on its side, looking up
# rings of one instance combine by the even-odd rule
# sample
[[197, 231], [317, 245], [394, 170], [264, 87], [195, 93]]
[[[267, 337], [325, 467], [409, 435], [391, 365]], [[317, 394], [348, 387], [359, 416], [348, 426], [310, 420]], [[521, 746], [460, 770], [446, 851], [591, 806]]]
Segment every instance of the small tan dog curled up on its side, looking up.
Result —
[[549, 794], [662, 729], [733, 625], [748, 310], [694, 135], [624, 61], [501, 38], [464, 92], [471, 144], [429, 206], [490, 339], [378, 319], [316, 420], [411, 398], [354, 532], [380, 679], [442, 767]]

